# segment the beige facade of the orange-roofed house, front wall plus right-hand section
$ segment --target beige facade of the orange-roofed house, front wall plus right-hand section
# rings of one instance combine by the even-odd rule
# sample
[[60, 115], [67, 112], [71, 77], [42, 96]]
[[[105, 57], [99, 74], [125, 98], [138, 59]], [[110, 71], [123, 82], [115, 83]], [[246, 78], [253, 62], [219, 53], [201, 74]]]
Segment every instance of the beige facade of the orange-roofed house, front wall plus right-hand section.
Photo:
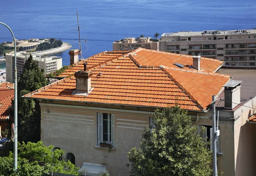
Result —
[[[256, 107], [256, 98], [245, 106]], [[252, 108], [241, 106], [236, 110], [219, 111], [218, 170], [223, 176], [252, 176], [256, 152], [256, 124], [247, 123], [253, 115]], [[130, 110], [128, 110], [130, 109]], [[102, 106], [71, 102], [41, 103], [41, 140], [45, 145], [53, 144], [75, 156], [75, 164], [82, 167], [84, 162], [105, 165], [113, 176], [129, 176], [127, 152], [131, 147], [139, 147], [143, 128], [150, 124], [154, 109], [132, 110], [121, 106]], [[99, 114], [113, 115], [113, 148], [99, 146]], [[193, 121], [197, 113], [189, 112]], [[212, 128], [211, 109], [198, 113], [195, 125], [198, 132], [201, 126]], [[209, 135], [208, 135], [209, 136]], [[67, 156], [63, 156], [67, 159]]]

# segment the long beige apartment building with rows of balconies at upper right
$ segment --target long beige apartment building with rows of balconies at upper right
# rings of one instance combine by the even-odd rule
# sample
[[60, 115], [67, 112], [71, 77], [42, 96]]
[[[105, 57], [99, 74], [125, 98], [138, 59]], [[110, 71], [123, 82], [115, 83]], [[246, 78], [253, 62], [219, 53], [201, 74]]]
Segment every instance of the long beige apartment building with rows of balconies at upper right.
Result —
[[256, 66], [256, 29], [164, 33], [159, 51], [201, 54], [225, 61], [227, 66]]

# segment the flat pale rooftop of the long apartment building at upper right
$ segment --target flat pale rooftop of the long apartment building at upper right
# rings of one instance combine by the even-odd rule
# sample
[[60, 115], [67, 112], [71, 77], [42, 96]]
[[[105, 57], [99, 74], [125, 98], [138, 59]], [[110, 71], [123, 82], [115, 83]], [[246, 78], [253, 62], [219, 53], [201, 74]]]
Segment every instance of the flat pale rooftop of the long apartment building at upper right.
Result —
[[198, 36], [198, 35], [237, 35], [237, 34], [256, 34], [256, 29], [240, 29], [240, 30], [230, 30], [230, 31], [219, 31], [219, 30], [210, 30], [210, 31], [199, 31], [199, 32], [192, 32], [192, 31], [179, 31], [179, 32], [172, 32], [172, 33], [163, 33], [162, 37], [168, 36]]

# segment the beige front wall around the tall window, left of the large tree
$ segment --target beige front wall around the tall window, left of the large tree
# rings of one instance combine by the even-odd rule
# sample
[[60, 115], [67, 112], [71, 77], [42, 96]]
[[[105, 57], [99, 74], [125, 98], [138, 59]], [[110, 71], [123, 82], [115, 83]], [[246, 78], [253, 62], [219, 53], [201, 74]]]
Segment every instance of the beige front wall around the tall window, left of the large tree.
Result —
[[[116, 150], [111, 150], [110, 153], [109, 149], [95, 147], [97, 113], [115, 115]], [[45, 145], [52, 144], [65, 150], [66, 153], [73, 153], [77, 167], [81, 167], [83, 162], [104, 164], [113, 176], [118, 174], [129, 176], [129, 169], [125, 166], [128, 163], [127, 152], [131, 147], [139, 147], [143, 127], [149, 124], [149, 116], [131, 111], [93, 110], [41, 104], [41, 140]]]

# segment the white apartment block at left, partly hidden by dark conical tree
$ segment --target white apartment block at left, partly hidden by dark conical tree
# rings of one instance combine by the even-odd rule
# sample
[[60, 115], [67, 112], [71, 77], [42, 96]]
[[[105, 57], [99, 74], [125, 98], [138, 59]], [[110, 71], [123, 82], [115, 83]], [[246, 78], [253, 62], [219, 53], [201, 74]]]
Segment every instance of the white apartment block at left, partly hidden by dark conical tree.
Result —
[[[44, 74], [54, 72], [62, 67], [62, 58], [57, 56], [43, 57], [40, 55], [32, 55], [33, 59], [40, 69], [44, 69]], [[29, 53], [26, 52], [17, 52], [17, 79], [20, 78], [21, 73], [23, 72], [23, 66], [29, 58]], [[6, 54], [6, 81], [14, 82], [15, 78], [15, 58], [14, 53]]]

